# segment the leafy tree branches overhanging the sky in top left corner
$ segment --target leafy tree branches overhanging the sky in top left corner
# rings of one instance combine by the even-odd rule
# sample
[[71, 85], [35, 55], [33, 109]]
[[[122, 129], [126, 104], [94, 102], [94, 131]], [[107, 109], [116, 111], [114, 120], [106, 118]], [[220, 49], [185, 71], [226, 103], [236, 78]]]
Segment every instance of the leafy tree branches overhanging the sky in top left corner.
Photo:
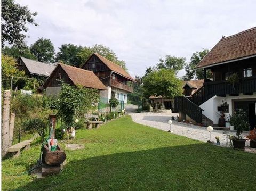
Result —
[[2, 0], [2, 47], [5, 43], [23, 46], [28, 31], [27, 24], [38, 24], [34, 21], [36, 12], [32, 13], [26, 6], [15, 4], [14, 0]]

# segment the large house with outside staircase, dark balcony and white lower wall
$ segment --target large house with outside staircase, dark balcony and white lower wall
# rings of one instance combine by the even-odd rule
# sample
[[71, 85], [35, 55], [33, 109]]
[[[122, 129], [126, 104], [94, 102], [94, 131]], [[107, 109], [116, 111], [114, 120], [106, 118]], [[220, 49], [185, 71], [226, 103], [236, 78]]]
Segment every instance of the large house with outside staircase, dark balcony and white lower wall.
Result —
[[[220, 122], [225, 123], [220, 120], [220, 113], [228, 121], [236, 109], [243, 109], [253, 129], [256, 126], [256, 27], [222, 37], [196, 69], [204, 69], [203, 87], [190, 99], [175, 97], [175, 110], [199, 123], [208, 119], [209, 124], [220, 126]], [[206, 78], [207, 70], [211, 70], [213, 79]], [[230, 76], [236, 78], [234, 83], [228, 80]]]

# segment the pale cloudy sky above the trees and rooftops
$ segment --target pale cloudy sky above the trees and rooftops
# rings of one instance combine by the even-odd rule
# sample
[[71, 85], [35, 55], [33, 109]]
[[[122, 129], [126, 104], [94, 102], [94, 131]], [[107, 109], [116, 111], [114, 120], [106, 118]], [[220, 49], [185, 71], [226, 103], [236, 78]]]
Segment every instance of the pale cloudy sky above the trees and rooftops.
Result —
[[[28, 44], [38, 37], [61, 44], [103, 44], [134, 76], [166, 54], [186, 57], [212, 48], [222, 35], [256, 26], [255, 1], [17, 0], [37, 11]], [[179, 72], [182, 76], [184, 71]]]

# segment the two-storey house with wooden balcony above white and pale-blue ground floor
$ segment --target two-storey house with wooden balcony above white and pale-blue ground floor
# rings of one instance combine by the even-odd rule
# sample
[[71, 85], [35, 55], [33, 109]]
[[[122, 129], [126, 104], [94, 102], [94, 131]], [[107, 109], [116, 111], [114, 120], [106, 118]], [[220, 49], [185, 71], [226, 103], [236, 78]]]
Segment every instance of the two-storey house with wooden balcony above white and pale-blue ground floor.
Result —
[[128, 93], [133, 93], [132, 84], [135, 80], [122, 67], [93, 53], [81, 68], [94, 72], [106, 86], [106, 90], [100, 92], [102, 101], [105, 100], [107, 103], [109, 99], [115, 97], [127, 103]]

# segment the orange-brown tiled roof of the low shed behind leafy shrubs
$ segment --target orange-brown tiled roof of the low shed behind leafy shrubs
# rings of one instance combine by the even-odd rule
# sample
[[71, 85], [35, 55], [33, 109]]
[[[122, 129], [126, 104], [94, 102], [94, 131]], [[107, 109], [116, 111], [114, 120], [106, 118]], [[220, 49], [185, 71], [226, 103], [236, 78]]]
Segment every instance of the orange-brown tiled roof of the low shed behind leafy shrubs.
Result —
[[[67, 64], [58, 64], [55, 70], [57, 70], [58, 67], [61, 67], [66, 72], [67, 76], [74, 83], [74, 85], [82, 85], [87, 88], [106, 90], [106, 87], [92, 71], [71, 67], [71, 65]], [[53, 71], [51, 76], [45, 81], [45, 84], [54, 75], [55, 72]], [[45, 84], [43, 87], [45, 87]]]

